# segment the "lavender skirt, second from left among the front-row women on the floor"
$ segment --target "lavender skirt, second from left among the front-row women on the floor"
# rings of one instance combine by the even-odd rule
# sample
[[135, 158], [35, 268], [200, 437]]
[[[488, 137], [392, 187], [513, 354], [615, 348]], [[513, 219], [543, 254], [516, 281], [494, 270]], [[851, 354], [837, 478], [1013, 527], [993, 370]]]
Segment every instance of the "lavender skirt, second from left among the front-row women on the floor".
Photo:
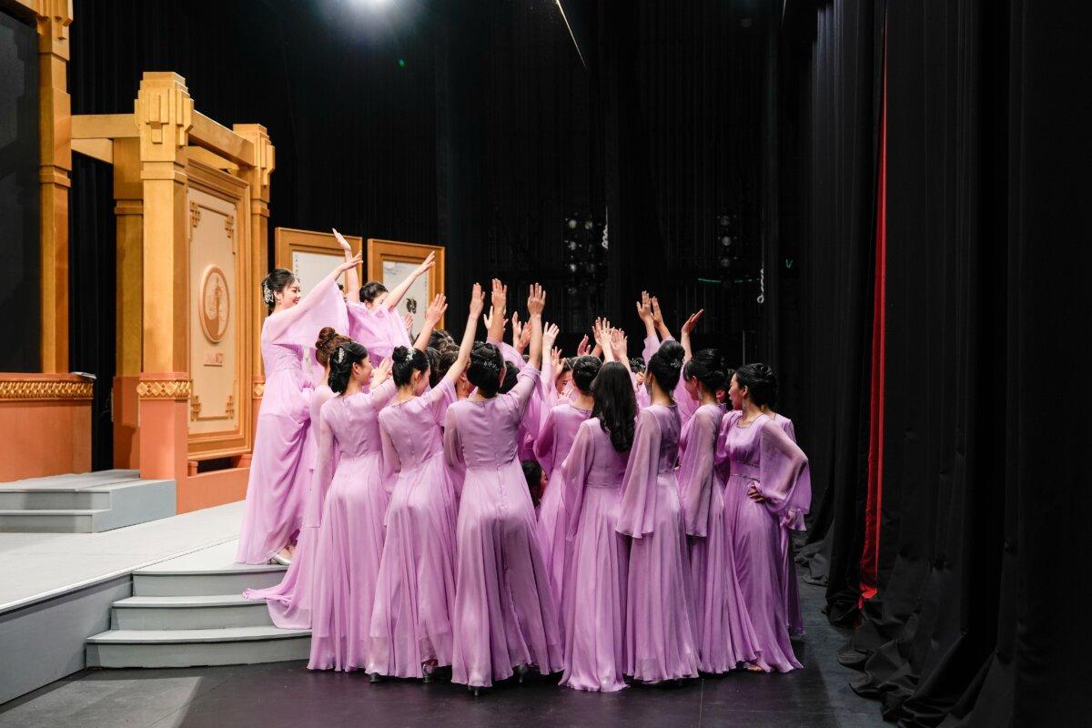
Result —
[[399, 475], [387, 512], [368, 672], [419, 678], [426, 660], [451, 665], [455, 511], [441, 451]]

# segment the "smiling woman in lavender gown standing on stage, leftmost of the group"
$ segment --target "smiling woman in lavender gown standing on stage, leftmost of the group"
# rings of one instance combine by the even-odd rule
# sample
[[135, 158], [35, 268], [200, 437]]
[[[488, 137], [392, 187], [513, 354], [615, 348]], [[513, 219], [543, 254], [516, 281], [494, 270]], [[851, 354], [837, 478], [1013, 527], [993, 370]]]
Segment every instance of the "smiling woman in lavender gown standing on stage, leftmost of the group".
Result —
[[356, 255], [337, 265], [307, 296], [301, 296], [299, 282], [284, 268], [276, 268], [262, 281], [262, 300], [270, 309], [261, 334], [265, 391], [258, 414], [236, 561], [265, 563], [278, 557], [287, 562], [292, 558], [310, 484], [304, 443], [312, 383], [304, 373], [304, 349], [313, 344], [324, 326], [347, 329], [337, 277], [359, 262]]

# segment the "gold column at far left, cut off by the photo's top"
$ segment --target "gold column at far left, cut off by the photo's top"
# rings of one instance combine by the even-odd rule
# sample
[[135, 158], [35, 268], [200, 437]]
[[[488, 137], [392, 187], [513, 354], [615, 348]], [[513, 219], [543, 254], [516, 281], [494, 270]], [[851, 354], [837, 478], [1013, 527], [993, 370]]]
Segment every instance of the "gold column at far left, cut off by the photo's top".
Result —
[[68, 93], [72, 0], [39, 0], [39, 181], [41, 183], [41, 371], [67, 372], [68, 191], [72, 186], [72, 102]]

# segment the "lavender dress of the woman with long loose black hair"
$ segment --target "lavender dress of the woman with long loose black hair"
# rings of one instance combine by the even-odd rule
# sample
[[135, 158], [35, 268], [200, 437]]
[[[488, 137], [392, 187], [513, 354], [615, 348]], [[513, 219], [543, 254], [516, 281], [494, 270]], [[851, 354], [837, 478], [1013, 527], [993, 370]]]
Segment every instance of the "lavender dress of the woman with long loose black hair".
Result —
[[628, 453], [610, 444], [597, 418], [584, 420], [561, 470], [566, 488], [565, 655], [561, 684], [614, 692], [626, 688], [626, 588], [629, 544], [617, 532]]

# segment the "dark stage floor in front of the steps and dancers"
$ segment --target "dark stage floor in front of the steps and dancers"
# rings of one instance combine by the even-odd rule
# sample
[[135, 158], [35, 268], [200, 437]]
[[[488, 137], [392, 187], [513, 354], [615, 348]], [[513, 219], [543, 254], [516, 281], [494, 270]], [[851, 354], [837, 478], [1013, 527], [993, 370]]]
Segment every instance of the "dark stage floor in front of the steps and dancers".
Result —
[[0, 706], [0, 728], [886, 726], [879, 706], [848, 688], [852, 672], [835, 659], [845, 636], [819, 613], [822, 590], [802, 582], [800, 598], [808, 634], [796, 647], [805, 669], [790, 675], [739, 673], [610, 695], [536, 679], [473, 699], [448, 682], [373, 685], [363, 673], [310, 672], [305, 663], [84, 670]]

